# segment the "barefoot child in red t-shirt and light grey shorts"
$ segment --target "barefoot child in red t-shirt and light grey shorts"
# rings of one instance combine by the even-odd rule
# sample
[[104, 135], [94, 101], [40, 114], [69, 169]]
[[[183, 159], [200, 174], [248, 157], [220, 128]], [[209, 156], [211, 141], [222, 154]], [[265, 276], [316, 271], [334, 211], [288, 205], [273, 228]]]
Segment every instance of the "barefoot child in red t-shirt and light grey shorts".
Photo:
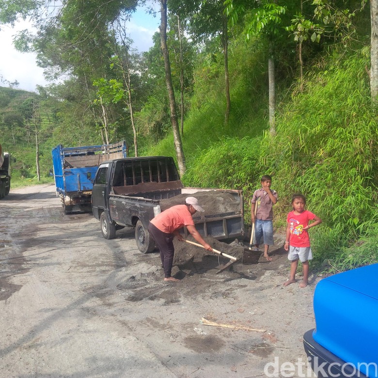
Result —
[[[291, 261], [290, 278], [284, 282], [284, 286], [296, 282], [295, 273], [298, 268], [298, 260], [303, 266], [303, 280], [299, 287], [308, 285], [308, 260], [313, 259], [311, 252], [308, 229], [320, 224], [322, 220], [311, 211], [305, 210], [306, 197], [302, 194], [294, 194], [291, 199], [293, 211], [287, 215], [285, 250], [289, 251], [287, 258]], [[309, 221], [314, 221], [309, 224]]]

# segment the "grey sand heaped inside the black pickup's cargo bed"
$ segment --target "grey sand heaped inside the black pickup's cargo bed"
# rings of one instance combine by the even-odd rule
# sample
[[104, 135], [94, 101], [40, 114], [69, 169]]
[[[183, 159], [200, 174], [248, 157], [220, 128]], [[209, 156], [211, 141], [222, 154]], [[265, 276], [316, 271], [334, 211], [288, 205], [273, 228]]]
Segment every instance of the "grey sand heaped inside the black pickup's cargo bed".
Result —
[[241, 198], [225, 190], [197, 191], [193, 194], [179, 194], [172, 198], [160, 200], [161, 211], [175, 205], [185, 204], [187, 197], [197, 198], [204, 213], [197, 212], [193, 219], [207, 218], [214, 215], [241, 214]]

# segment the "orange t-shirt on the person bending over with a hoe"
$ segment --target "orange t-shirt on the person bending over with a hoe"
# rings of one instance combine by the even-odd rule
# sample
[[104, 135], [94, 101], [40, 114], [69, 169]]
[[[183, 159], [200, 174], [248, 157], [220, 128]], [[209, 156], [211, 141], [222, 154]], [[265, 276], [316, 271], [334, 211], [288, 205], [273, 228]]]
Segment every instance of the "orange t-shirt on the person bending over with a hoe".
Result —
[[172, 206], [150, 221], [155, 227], [166, 234], [184, 226], [194, 226], [193, 218], [187, 205]]

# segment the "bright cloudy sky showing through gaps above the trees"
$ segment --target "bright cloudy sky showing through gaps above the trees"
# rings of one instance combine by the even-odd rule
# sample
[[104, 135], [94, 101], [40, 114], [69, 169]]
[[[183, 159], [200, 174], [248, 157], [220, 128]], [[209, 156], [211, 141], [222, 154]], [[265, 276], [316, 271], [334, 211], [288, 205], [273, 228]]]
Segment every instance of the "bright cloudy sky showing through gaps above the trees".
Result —
[[[152, 36], [158, 31], [160, 23], [159, 16], [159, 13], [155, 18], [146, 14], [145, 9], [140, 9], [133, 14], [127, 35], [134, 41], [132, 47], [140, 52], [152, 47]], [[19, 82], [17, 89], [36, 92], [36, 85], [48, 84], [43, 76], [43, 69], [35, 62], [35, 54], [18, 52], [12, 45], [13, 36], [17, 31], [30, 28], [31, 24], [27, 21], [18, 22], [14, 28], [1, 25], [0, 87], [7, 87], [8, 82], [17, 80]]]

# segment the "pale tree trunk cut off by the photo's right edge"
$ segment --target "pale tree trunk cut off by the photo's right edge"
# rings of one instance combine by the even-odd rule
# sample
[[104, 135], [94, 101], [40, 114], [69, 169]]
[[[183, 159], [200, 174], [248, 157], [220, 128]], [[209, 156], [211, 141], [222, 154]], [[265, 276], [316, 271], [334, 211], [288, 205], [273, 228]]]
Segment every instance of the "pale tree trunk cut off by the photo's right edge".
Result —
[[378, 104], [378, 0], [370, 0], [370, 93], [374, 104]]

